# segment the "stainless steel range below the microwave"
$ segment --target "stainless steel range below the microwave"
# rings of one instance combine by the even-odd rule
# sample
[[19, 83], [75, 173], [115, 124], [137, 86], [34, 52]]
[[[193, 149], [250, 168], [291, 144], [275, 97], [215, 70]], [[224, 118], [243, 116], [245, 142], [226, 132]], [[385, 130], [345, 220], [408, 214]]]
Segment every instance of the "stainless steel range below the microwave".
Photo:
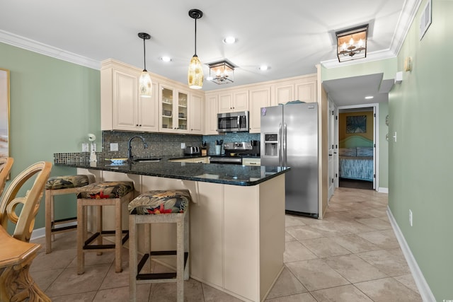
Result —
[[210, 163], [241, 165], [243, 157], [260, 156], [260, 141], [234, 141], [224, 144], [225, 154], [210, 156]]

